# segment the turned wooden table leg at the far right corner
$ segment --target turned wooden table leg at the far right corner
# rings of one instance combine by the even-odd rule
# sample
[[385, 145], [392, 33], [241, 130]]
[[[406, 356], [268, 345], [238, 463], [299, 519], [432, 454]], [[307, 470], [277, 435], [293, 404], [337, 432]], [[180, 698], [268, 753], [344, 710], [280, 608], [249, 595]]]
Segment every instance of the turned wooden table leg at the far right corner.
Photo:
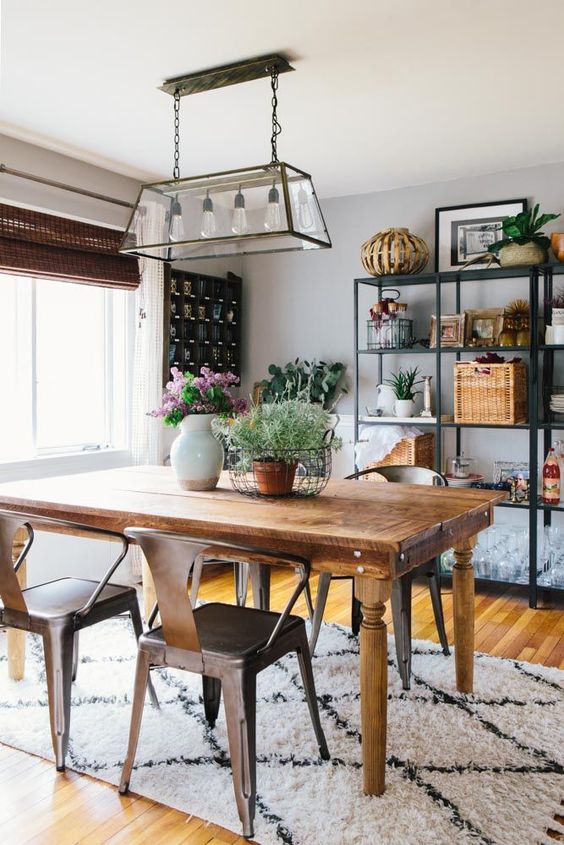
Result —
[[459, 692], [474, 690], [474, 567], [472, 549], [475, 537], [461, 540], [454, 549], [452, 594], [454, 610], [454, 644], [456, 688]]

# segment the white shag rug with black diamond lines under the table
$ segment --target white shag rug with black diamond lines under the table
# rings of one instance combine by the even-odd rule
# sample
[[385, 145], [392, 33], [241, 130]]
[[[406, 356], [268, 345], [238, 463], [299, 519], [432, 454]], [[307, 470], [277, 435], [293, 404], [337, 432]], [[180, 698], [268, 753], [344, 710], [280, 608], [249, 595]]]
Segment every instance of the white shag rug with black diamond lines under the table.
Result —
[[[0, 741], [52, 759], [39, 639], [26, 679], [7, 680], [0, 633]], [[390, 643], [387, 790], [362, 794], [358, 641], [324, 625], [314, 660], [332, 759], [322, 762], [295, 657], [261, 673], [256, 840], [264, 845], [554, 845], [564, 797], [564, 672], [478, 654], [475, 694], [460, 695], [453, 658], [414, 642], [404, 692]], [[68, 765], [117, 783], [135, 667], [129, 623], [81, 634]], [[131, 789], [240, 832], [223, 708], [203, 718], [200, 679], [153, 673], [161, 710], [145, 707]]]

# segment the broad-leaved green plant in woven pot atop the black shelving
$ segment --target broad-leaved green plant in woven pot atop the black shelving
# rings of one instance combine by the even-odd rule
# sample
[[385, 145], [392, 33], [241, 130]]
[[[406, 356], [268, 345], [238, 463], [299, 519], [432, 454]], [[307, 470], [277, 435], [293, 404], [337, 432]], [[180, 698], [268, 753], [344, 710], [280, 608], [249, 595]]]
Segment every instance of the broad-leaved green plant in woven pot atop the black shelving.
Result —
[[519, 267], [523, 264], [545, 264], [548, 261], [549, 238], [540, 230], [559, 214], [539, 214], [538, 203], [529, 211], [507, 217], [502, 223], [504, 237], [489, 247], [489, 252], [499, 255], [502, 267]]

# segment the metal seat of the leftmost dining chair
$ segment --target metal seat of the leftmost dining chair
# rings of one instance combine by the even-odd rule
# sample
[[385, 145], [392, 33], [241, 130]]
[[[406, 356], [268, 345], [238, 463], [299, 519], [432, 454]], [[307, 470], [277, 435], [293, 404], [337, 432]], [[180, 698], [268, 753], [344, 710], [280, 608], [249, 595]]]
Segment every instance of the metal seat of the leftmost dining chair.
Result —
[[[77, 610], [84, 607], [97, 585], [98, 581], [88, 581], [83, 578], [58, 578], [56, 581], [29, 587], [22, 592], [31, 617], [56, 619], [73, 616]], [[107, 584], [96, 601], [96, 607], [115, 602], [120, 598], [127, 602], [135, 595], [134, 587]]]

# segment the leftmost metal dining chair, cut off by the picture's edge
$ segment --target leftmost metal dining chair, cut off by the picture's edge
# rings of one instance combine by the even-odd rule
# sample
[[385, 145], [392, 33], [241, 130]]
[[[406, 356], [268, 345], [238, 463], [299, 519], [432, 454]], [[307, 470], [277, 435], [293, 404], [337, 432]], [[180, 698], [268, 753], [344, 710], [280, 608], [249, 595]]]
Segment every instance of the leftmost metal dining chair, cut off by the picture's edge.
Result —
[[[58, 578], [22, 590], [16, 574], [33, 543], [34, 525], [36, 528], [70, 530], [113, 540], [120, 544], [120, 552], [99, 582], [84, 578]], [[28, 540], [13, 563], [12, 546], [16, 532], [21, 528], [27, 530]], [[39, 634], [43, 638], [51, 738], [59, 772], [65, 769], [68, 750], [71, 685], [78, 667], [79, 632], [122, 613], [131, 616], [137, 638], [143, 632], [135, 589], [110, 583], [110, 578], [127, 554], [127, 548], [127, 539], [114, 531], [66, 520], [0, 512], [0, 625]], [[158, 706], [152, 684], [149, 693], [153, 704]]]

